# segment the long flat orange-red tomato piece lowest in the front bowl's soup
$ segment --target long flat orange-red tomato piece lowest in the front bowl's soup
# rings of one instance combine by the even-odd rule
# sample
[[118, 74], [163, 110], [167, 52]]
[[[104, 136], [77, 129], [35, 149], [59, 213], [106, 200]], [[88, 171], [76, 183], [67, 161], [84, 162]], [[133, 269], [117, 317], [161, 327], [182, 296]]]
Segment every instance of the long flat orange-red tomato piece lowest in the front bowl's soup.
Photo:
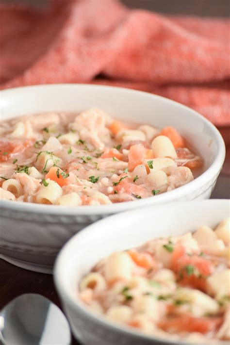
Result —
[[218, 329], [222, 321], [222, 317], [192, 317], [183, 314], [161, 321], [158, 327], [173, 333], [198, 332], [206, 334]]

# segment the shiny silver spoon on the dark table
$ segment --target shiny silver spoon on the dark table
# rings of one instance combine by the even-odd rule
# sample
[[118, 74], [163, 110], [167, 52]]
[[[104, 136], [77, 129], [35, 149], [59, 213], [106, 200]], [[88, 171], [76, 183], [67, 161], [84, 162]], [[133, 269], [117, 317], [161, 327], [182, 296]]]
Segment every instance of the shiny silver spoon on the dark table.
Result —
[[0, 344], [69, 345], [70, 341], [65, 315], [41, 295], [18, 296], [0, 312]]

